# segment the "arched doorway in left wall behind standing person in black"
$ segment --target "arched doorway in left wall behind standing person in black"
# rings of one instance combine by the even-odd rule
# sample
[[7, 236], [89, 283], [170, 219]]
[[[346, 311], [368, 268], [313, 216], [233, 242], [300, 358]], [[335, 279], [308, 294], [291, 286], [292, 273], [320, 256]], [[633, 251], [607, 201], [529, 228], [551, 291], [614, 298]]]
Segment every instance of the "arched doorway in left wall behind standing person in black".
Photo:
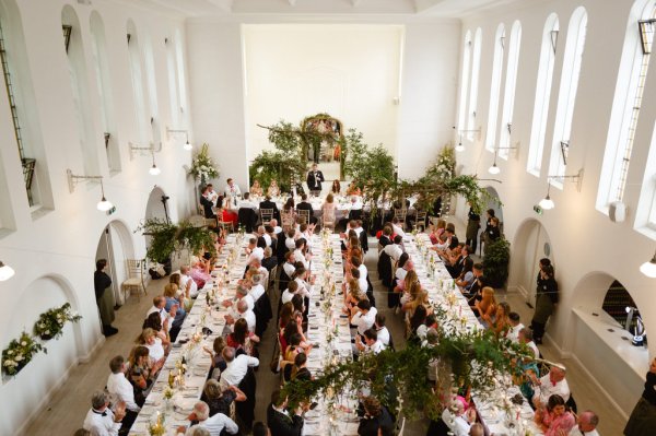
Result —
[[96, 248], [95, 260], [98, 259], [108, 261], [114, 301], [120, 306], [125, 303], [120, 284], [128, 278], [127, 260], [134, 259], [132, 234], [124, 222], [115, 220], [103, 229]]

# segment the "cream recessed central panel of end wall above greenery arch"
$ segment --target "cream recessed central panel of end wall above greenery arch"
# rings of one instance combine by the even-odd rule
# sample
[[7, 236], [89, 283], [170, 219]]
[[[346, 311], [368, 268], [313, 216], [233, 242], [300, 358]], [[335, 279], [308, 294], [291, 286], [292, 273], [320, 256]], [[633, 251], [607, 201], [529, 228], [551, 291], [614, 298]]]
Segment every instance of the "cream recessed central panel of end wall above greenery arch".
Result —
[[318, 113], [396, 154], [403, 26], [254, 24], [243, 36], [249, 161], [273, 148], [258, 123], [297, 126]]

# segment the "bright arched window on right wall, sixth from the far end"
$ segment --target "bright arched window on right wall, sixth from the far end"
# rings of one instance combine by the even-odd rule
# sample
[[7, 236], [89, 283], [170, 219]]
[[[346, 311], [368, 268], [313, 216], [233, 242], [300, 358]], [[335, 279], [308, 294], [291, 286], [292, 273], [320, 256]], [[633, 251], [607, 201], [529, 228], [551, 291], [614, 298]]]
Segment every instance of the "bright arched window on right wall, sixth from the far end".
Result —
[[[567, 27], [567, 44], [565, 45], [565, 56], [563, 57], [563, 71], [558, 93], [558, 108], [553, 123], [553, 143], [551, 144], [551, 160], [549, 164], [550, 176], [563, 177], [565, 175], [574, 103], [576, 102], [576, 90], [578, 89], [578, 76], [581, 75], [581, 62], [585, 48], [586, 32], [587, 12], [585, 8], [581, 7], [572, 13]], [[559, 188], [562, 188], [562, 178], [551, 179], [551, 184]]]

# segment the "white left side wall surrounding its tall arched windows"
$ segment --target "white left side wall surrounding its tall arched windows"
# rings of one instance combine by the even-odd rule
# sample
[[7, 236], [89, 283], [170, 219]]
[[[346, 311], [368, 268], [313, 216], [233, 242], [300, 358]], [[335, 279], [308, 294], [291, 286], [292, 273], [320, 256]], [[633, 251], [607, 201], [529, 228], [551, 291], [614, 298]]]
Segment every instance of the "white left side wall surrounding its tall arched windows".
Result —
[[[26, 56], [36, 106], [33, 107], [36, 121], [40, 126], [35, 132], [43, 138], [45, 156], [37, 165], [47, 169], [47, 178], [39, 180], [52, 191], [51, 204], [34, 210], [28, 207], [14, 131], [9, 114], [4, 86], [0, 91], [0, 179], [7, 180], [7, 188], [0, 180], [2, 197], [2, 226], [0, 233], [0, 259], [14, 268], [16, 274], [9, 281], [0, 282], [3, 304], [0, 306], [0, 347], [14, 339], [21, 330], [31, 330], [38, 314], [61, 305], [66, 301], [73, 305], [83, 319], [78, 333], [67, 327], [59, 341], [48, 343], [48, 354], [38, 355], [14, 378], [4, 378], [0, 385], [0, 435], [20, 434], [20, 427], [28, 423], [33, 411], [48, 401], [48, 392], [65, 379], [67, 369], [86, 360], [94, 347], [102, 343], [97, 307], [93, 292], [95, 254], [105, 226], [118, 220], [128, 229], [124, 235], [127, 245], [133, 245], [134, 255], [143, 257], [144, 239], [132, 232], [143, 220], [145, 207], [153, 185], [161, 186], [171, 197], [171, 214], [174, 221], [190, 212], [188, 192], [191, 180], [186, 178], [183, 165], [190, 163], [190, 154], [181, 144], [165, 141], [161, 153], [156, 153], [162, 174], [154, 178], [148, 174], [151, 165], [148, 156], [134, 155], [130, 160], [129, 141], [136, 141], [131, 78], [128, 66], [126, 23], [132, 19], [138, 27], [140, 39], [150, 35], [153, 45], [156, 98], [159, 111], [150, 114], [159, 123], [160, 134], [166, 138], [165, 127], [172, 123], [168, 102], [166, 46], [164, 38], [172, 38], [176, 30], [184, 30], [181, 17], [168, 16], [151, 10], [138, 9], [128, 2], [94, 0], [92, 5], [63, 0], [40, 1], [21, 0], [17, 11], [24, 31]], [[105, 196], [117, 212], [107, 216], [95, 209], [101, 199], [99, 185], [81, 182], [74, 192], [69, 192], [67, 168], [83, 175], [84, 165], [80, 155], [80, 141], [72, 103], [72, 91], [68, 64], [63, 49], [61, 11], [70, 4], [80, 20], [84, 59], [86, 61], [89, 89], [93, 120], [93, 144], [96, 148], [90, 155], [97, 156], [95, 167], [105, 177]], [[15, 3], [2, 0], [0, 11], [14, 11]], [[117, 141], [121, 160], [120, 173], [109, 174], [104, 151], [103, 131], [99, 126], [99, 97], [91, 56], [90, 15], [97, 11], [104, 21], [109, 75], [114, 92], [116, 130], [112, 132]], [[15, 14], [9, 16], [15, 20]], [[184, 32], [181, 32], [184, 33]], [[5, 32], [4, 37], [14, 35]], [[14, 52], [14, 56], [16, 54]], [[185, 107], [188, 104], [185, 102]], [[32, 123], [31, 123], [32, 126]], [[194, 137], [191, 135], [191, 139]], [[144, 144], [139, 144], [144, 145]], [[92, 165], [93, 167], [94, 165]], [[98, 175], [98, 174], [92, 174]], [[130, 240], [132, 239], [132, 240]], [[124, 240], [121, 239], [121, 244]], [[131, 251], [131, 247], [124, 249]], [[45, 278], [45, 279], [44, 279]], [[55, 278], [55, 279], [51, 279]], [[83, 417], [81, 416], [80, 420]]]

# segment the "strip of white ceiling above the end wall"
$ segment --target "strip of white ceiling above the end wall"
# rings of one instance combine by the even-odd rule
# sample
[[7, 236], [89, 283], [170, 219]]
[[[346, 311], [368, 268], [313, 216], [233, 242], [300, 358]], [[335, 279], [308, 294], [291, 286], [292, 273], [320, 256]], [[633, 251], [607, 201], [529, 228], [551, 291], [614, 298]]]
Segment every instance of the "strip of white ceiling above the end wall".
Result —
[[237, 15], [398, 15], [460, 17], [514, 0], [137, 0], [189, 17]]

